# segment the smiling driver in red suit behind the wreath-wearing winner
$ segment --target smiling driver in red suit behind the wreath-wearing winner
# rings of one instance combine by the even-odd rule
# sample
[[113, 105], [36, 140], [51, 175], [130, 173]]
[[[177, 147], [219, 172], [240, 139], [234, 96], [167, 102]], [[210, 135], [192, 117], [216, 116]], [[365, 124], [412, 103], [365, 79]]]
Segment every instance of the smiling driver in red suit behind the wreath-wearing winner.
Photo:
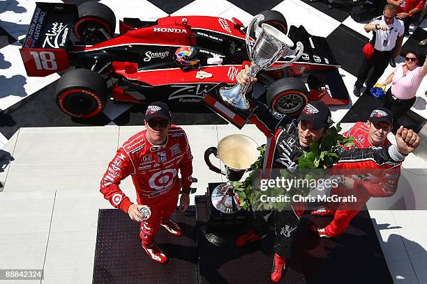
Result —
[[[389, 109], [376, 108], [370, 113], [369, 120], [366, 123], [356, 123], [343, 135], [354, 137], [352, 148], [384, 147], [391, 145], [387, 139], [387, 134], [391, 131], [392, 125], [393, 113]], [[338, 237], [341, 235], [370, 197], [392, 196], [396, 192], [400, 176], [400, 164], [379, 166], [375, 162], [369, 161], [346, 161], [336, 164], [333, 168], [333, 174], [339, 172], [340, 169], [347, 169], [344, 173], [349, 173], [348, 169], [352, 169], [352, 172], [358, 169], [366, 178], [354, 180], [346, 176], [340, 187], [331, 189], [331, 196], [353, 194], [357, 197], [356, 203], [328, 203], [326, 207], [320, 207], [311, 213], [315, 216], [334, 215], [334, 219], [328, 226], [317, 228], [320, 237]], [[366, 168], [372, 168], [373, 171], [367, 175]]]

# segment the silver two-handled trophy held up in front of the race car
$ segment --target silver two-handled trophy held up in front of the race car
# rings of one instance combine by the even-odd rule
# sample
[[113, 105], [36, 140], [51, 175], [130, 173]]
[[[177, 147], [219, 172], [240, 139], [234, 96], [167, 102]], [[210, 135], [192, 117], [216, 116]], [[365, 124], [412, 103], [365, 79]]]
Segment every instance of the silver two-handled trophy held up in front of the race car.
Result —
[[[261, 24], [260, 21], [264, 19], [263, 15], [256, 15], [246, 30], [246, 49], [248, 49], [248, 56], [251, 64], [249, 77], [255, 77], [260, 70], [276, 70], [289, 66], [294, 61], [297, 61], [304, 52], [304, 45], [297, 42], [297, 47], [292, 50], [290, 47], [294, 46], [294, 42], [288, 38], [285, 33], [280, 32], [278, 29], [270, 26], [269, 24]], [[249, 34], [252, 29], [255, 29], [255, 36], [257, 40], [255, 45], [253, 41], [249, 40]], [[253, 47], [252, 47], [253, 45]], [[280, 57], [292, 57], [292, 60], [283, 63], [277, 67], [269, 67], [273, 65]], [[249, 102], [246, 100], [246, 90], [250, 84], [241, 86], [237, 84], [230, 88], [220, 88], [219, 93], [221, 98], [231, 104], [237, 109], [249, 109]]]

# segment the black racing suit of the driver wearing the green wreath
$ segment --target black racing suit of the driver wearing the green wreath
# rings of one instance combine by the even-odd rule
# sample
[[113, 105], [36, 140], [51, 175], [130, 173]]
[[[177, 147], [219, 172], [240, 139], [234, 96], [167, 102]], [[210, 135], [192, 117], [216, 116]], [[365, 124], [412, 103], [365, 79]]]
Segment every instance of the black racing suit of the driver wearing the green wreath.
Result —
[[[272, 168], [287, 168], [291, 171], [297, 170], [298, 158], [303, 155], [308, 148], [299, 145], [298, 123], [288, 116], [284, 116], [280, 121], [280, 127], [274, 136], [267, 139], [267, 148], [264, 155], [263, 175], [264, 178], [271, 178]], [[391, 159], [388, 148], [354, 148], [337, 149], [339, 155], [338, 164], [346, 165], [347, 161], [357, 160], [354, 166], [364, 166], [366, 164], [387, 164], [396, 166], [398, 162]], [[274, 251], [282, 258], [290, 258], [292, 253], [292, 238], [294, 237], [299, 219], [304, 213], [304, 203], [293, 203], [283, 211], [267, 212], [255, 211], [253, 209], [252, 228], [257, 235], [266, 235], [268, 230], [267, 218], [269, 214], [274, 214], [276, 227], [276, 239], [274, 241]]]

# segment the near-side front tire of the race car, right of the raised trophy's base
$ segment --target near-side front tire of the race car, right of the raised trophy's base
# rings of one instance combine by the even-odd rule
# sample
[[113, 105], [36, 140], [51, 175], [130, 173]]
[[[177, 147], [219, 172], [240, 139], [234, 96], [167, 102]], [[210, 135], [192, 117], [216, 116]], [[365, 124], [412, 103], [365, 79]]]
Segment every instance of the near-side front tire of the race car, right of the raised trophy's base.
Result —
[[299, 79], [282, 78], [267, 90], [267, 104], [271, 109], [287, 116], [298, 116], [308, 104], [309, 93]]

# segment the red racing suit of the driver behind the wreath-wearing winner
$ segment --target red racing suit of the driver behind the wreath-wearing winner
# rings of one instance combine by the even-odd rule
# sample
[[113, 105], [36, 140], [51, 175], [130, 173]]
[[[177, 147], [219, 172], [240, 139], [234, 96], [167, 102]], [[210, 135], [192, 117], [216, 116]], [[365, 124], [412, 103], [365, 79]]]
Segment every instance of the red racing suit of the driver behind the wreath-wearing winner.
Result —
[[[356, 123], [350, 130], [343, 134], [344, 136], [354, 137], [354, 147], [352, 148], [373, 148], [368, 140], [369, 126], [366, 123]], [[391, 145], [390, 141], [386, 139], [381, 146]], [[366, 175], [367, 168], [377, 169], [370, 171]], [[358, 157], [349, 157], [348, 159], [341, 159], [338, 164], [333, 167], [335, 172], [338, 169], [347, 169], [345, 173], [349, 173], [350, 169], [357, 173], [359, 171], [366, 176], [363, 180], [355, 180], [354, 187], [350, 191], [345, 187], [333, 187], [331, 189], [331, 196], [347, 196], [352, 194], [357, 198], [356, 203], [329, 203], [328, 209], [336, 210], [334, 219], [325, 228], [325, 232], [329, 237], [337, 237], [342, 234], [350, 224], [350, 221], [361, 210], [362, 207], [368, 202], [371, 196], [373, 197], [388, 197], [392, 196], [398, 187], [398, 179], [400, 176], [400, 164], [382, 164], [379, 166], [375, 161], [364, 161]], [[383, 171], [381, 171], [383, 170]], [[339, 170], [338, 170], [339, 171]]]

